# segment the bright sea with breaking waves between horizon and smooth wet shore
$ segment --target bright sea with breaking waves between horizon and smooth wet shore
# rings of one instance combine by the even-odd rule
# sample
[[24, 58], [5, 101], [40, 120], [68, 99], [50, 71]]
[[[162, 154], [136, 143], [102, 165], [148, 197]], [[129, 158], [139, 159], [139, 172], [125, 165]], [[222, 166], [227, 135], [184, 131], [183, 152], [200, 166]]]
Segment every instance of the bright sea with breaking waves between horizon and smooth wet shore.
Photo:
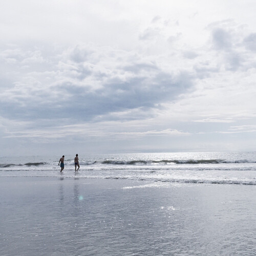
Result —
[[[1, 157], [0, 177], [59, 177], [57, 157]], [[79, 177], [176, 183], [256, 185], [256, 152], [79, 156]], [[74, 156], [63, 177], [74, 177]]]

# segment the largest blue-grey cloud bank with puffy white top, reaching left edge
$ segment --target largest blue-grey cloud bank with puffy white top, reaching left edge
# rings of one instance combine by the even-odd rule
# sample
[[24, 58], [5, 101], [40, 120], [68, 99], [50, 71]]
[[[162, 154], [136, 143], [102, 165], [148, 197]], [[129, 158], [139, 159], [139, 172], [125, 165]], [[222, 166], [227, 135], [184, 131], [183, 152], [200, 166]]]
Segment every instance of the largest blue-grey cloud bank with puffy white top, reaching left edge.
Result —
[[[99, 62], [97, 54], [102, 53], [105, 59]], [[41, 61], [42, 55], [36, 56]], [[5, 89], [1, 115], [17, 120], [89, 121], [114, 112], [159, 108], [193, 86], [186, 71], [168, 73], [155, 61], [131, 61], [127, 52], [113, 57], [105, 49], [97, 53], [75, 47], [50, 68], [52, 72], [25, 72], [22, 80]]]

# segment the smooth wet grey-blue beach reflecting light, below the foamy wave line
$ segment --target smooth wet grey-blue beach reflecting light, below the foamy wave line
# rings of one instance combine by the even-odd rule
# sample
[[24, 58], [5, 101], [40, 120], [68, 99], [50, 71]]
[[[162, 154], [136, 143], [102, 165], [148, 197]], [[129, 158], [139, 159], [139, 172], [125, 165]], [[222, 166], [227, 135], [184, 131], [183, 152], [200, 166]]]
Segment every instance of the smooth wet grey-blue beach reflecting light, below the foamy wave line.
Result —
[[254, 185], [0, 178], [1, 255], [255, 255]]

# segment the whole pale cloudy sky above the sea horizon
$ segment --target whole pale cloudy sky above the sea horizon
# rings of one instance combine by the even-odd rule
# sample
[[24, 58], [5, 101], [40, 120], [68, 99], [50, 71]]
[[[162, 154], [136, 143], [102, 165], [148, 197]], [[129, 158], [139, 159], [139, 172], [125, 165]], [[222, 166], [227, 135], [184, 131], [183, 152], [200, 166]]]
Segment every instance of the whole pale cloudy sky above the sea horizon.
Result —
[[0, 155], [254, 151], [254, 0], [8, 0]]

